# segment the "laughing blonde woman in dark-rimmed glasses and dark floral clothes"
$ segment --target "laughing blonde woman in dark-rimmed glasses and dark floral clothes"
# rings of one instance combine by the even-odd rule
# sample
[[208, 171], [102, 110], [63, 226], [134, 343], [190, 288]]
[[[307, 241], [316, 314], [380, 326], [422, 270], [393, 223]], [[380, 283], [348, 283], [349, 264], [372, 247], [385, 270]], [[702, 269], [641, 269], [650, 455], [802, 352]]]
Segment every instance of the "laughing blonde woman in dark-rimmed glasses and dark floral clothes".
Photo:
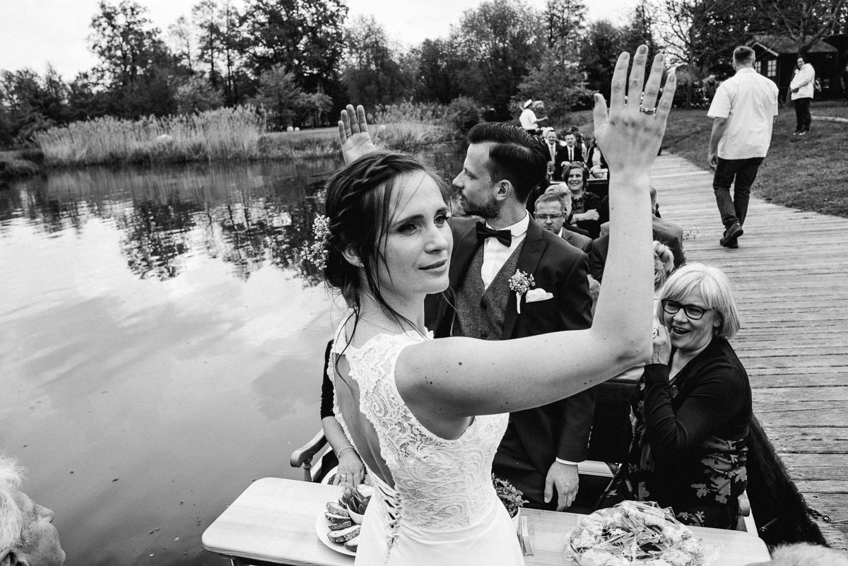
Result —
[[605, 504], [622, 498], [671, 507], [685, 524], [735, 529], [751, 395], [728, 342], [739, 330], [721, 269], [688, 264], [662, 287], [651, 362], [633, 395], [633, 447]]

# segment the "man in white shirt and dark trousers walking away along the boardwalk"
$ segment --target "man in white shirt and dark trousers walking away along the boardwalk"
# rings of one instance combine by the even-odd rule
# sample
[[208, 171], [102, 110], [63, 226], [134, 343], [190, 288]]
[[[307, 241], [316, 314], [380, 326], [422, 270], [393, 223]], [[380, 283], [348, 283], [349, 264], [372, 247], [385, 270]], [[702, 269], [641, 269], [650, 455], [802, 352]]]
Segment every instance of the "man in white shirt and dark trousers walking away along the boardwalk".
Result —
[[713, 119], [707, 160], [716, 169], [712, 189], [724, 225], [719, 240], [723, 247], [739, 247], [750, 186], [772, 142], [778, 115], [778, 86], [754, 70], [755, 59], [750, 47], [734, 49], [736, 75], [718, 86], [706, 113]]

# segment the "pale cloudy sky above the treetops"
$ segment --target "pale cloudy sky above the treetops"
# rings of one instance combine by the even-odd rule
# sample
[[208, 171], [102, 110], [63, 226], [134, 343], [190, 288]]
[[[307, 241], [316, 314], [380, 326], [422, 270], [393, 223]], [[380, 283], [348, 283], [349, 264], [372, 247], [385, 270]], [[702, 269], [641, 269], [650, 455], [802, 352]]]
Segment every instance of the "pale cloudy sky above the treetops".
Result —
[[[116, 4], [119, 0], [111, 0]], [[198, 0], [138, 0], [149, 9], [148, 16], [160, 30], [185, 14], [191, 16]], [[527, 0], [537, 8], [545, 0]], [[349, 19], [373, 15], [401, 45], [416, 45], [424, 39], [447, 35], [464, 11], [481, 0], [347, 0]], [[610, 19], [621, 24], [634, 0], [589, 0], [590, 20]], [[43, 75], [47, 63], [59, 70], [64, 80], [91, 69], [96, 59], [88, 51], [87, 36], [98, 0], [0, 0], [0, 69], [30, 68]]]

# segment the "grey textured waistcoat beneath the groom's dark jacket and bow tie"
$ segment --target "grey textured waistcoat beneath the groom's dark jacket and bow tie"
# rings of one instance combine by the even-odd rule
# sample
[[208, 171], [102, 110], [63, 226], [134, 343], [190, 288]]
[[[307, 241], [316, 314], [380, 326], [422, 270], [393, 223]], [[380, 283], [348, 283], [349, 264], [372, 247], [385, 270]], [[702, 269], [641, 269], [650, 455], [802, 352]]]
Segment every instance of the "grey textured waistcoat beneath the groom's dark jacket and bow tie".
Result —
[[483, 288], [483, 245], [471, 258], [465, 280], [456, 291], [456, 315], [451, 336], [467, 336], [483, 340], [503, 340], [506, 302], [510, 299], [510, 277], [518, 267], [518, 256], [524, 242], [516, 247], [500, 268], [488, 289]]

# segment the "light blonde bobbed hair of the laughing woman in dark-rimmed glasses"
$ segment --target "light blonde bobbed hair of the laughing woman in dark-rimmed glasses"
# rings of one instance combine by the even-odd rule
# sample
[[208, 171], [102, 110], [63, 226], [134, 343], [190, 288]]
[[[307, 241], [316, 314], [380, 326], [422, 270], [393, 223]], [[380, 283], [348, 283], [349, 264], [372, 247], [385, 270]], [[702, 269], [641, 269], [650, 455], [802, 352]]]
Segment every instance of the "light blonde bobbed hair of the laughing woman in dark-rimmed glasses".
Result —
[[726, 340], [736, 336], [740, 324], [734, 291], [728, 276], [712, 265], [686, 264], [672, 273], [662, 286], [660, 302], [656, 305], [657, 318], [662, 320], [662, 301], [683, 301], [695, 289], [704, 297], [706, 306], [715, 310], [721, 319], [721, 324], [715, 330], [716, 336]]

